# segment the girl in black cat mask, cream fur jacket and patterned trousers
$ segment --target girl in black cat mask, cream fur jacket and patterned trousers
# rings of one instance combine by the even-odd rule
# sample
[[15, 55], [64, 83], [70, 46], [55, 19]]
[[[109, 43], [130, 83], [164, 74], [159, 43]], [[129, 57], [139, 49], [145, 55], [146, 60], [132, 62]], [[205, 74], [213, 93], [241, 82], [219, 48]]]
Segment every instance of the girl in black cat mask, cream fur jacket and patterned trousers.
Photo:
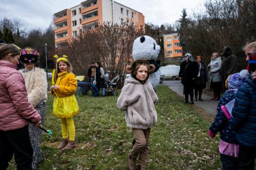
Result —
[[[32, 48], [22, 50], [20, 60], [24, 63], [25, 68], [19, 70], [25, 80], [28, 93], [28, 100], [41, 116], [41, 125], [44, 125], [46, 117], [46, 101], [47, 101], [47, 77], [44, 69], [35, 67], [40, 55]], [[32, 169], [36, 168], [36, 164], [44, 160], [40, 143], [42, 130], [29, 124], [29, 136], [33, 148]]]

